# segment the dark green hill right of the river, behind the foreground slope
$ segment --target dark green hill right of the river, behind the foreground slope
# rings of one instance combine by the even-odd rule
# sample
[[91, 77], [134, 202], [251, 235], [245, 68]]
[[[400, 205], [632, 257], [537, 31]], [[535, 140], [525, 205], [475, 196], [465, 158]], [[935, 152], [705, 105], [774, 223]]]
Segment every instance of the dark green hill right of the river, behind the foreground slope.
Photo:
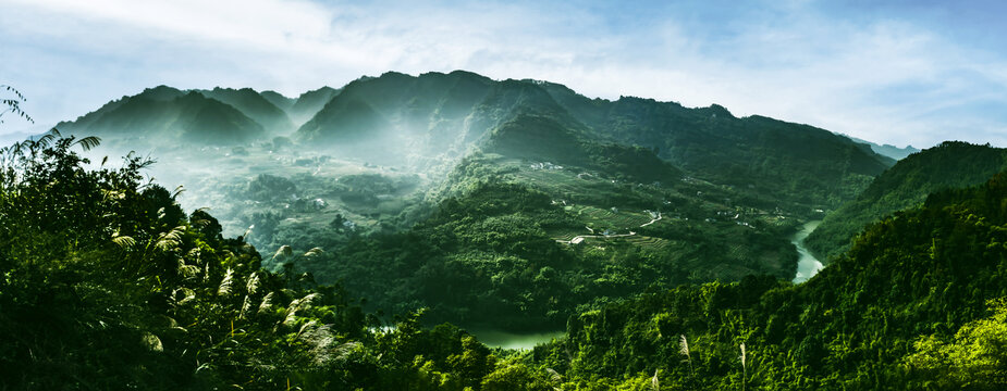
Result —
[[806, 245], [822, 260], [832, 258], [849, 249], [871, 222], [914, 206], [931, 192], [981, 184], [1005, 168], [1007, 150], [960, 141], [911, 154], [875, 178], [856, 200], [825, 216]]

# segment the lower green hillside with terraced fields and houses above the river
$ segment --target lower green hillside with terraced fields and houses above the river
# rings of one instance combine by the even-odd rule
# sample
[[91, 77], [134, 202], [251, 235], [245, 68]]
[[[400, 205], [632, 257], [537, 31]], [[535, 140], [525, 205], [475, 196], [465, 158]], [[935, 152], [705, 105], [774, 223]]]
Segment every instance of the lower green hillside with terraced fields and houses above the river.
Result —
[[[687, 200], [679, 192], [691, 188], [684, 185], [577, 179], [558, 171], [506, 168], [498, 161], [482, 155], [463, 162], [447, 197], [405, 230], [360, 236], [340, 220], [317, 232], [286, 230], [273, 247], [286, 241], [295, 249], [330, 251], [269, 264], [291, 262], [319, 281], [342, 280], [368, 298], [370, 308], [427, 307], [430, 321], [513, 330], [562, 328], [580, 305], [650, 286], [749, 274], [793, 277], [797, 260], [784, 237], [796, 219]], [[529, 180], [530, 175], [550, 181]], [[550, 186], [563, 181], [577, 185], [578, 192]], [[607, 205], [619, 207], [613, 212]], [[582, 241], [573, 243], [574, 238]]]

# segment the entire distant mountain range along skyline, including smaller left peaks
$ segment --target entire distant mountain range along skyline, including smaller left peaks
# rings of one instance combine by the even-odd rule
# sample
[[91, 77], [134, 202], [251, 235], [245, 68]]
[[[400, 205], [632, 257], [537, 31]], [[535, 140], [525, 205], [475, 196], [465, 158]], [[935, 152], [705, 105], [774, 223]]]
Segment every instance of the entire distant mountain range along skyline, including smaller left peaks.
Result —
[[[557, 84], [496, 81], [462, 71], [390, 72], [296, 99], [247, 88], [160, 86], [60, 126], [134, 141], [213, 144], [266, 140], [296, 127], [293, 138], [320, 153], [440, 167], [442, 174], [484, 149], [593, 169], [634, 169], [638, 178], [685, 174], [741, 189], [762, 206], [782, 202], [800, 213], [852, 199], [894, 163], [826, 130], [762, 116], [738, 118], [715, 104], [688, 109], [630, 97], [589, 99]], [[599, 154], [616, 150], [622, 163]], [[640, 176], [653, 169], [662, 173]]]

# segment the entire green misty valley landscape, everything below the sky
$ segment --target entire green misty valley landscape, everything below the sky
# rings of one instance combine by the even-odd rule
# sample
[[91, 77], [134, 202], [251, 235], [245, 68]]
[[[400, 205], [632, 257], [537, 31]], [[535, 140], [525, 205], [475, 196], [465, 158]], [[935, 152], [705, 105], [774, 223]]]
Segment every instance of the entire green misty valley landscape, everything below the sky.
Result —
[[456, 71], [0, 150], [0, 390], [1007, 387], [1007, 150]]

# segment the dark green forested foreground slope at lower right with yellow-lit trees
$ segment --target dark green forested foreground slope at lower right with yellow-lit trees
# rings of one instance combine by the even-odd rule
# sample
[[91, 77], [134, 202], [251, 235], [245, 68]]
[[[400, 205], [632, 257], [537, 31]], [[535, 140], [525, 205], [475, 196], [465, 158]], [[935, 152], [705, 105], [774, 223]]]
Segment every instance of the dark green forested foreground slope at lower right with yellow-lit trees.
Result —
[[1002, 389], [1004, 199], [1007, 173], [931, 194], [803, 285], [648, 292], [572, 317], [531, 357], [585, 390]]

